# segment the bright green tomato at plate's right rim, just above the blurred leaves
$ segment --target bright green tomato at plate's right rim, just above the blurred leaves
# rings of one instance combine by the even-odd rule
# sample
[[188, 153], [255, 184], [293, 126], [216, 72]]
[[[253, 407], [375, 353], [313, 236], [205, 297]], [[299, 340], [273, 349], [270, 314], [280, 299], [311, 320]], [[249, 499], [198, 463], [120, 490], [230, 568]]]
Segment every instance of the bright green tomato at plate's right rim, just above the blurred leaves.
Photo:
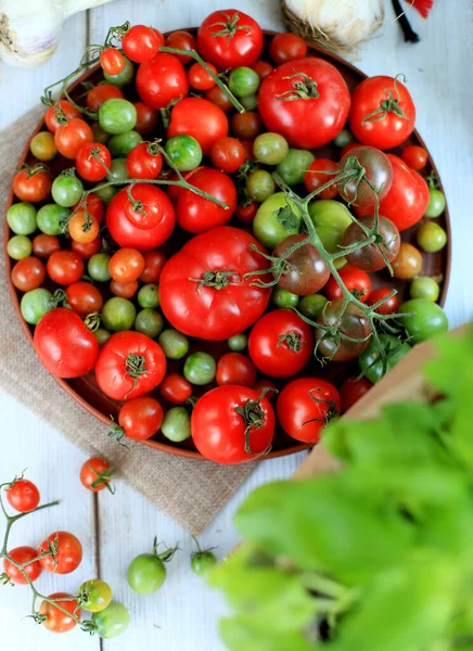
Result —
[[411, 317], [400, 318], [412, 344], [419, 344], [448, 330], [447, 315], [439, 305], [427, 298], [411, 298], [402, 303], [399, 311], [412, 312]]

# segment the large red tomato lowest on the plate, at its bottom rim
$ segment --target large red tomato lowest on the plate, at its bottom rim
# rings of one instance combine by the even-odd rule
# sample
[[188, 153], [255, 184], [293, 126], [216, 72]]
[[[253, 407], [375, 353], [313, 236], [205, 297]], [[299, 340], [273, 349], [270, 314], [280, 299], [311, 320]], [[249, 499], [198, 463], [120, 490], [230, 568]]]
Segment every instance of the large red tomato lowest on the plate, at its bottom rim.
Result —
[[225, 465], [269, 452], [274, 412], [269, 400], [246, 386], [217, 386], [200, 398], [191, 417], [192, 438], [206, 459]]

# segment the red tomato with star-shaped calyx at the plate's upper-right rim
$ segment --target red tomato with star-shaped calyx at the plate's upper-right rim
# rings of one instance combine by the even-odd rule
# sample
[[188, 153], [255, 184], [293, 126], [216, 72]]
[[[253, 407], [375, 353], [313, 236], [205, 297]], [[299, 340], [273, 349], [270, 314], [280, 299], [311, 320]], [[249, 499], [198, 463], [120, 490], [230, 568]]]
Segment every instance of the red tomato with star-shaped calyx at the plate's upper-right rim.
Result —
[[381, 150], [398, 146], [412, 133], [414, 122], [409, 91], [393, 77], [369, 77], [351, 93], [349, 128], [362, 144]]

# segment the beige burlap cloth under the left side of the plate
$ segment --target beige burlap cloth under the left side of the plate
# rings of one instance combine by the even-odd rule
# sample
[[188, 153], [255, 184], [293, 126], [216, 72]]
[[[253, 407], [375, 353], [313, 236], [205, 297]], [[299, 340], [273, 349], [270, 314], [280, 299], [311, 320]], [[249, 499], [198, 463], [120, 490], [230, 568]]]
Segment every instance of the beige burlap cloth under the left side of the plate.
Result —
[[[13, 169], [43, 111], [37, 106], [0, 131], [1, 229]], [[36, 357], [11, 303], [3, 254], [0, 254], [0, 388], [24, 403], [86, 454], [103, 455], [118, 469], [120, 477], [156, 507], [184, 528], [200, 533], [255, 464], [220, 467], [159, 452], [133, 442], [129, 442], [128, 451], [119, 448], [107, 438], [106, 426], [64, 393]]]

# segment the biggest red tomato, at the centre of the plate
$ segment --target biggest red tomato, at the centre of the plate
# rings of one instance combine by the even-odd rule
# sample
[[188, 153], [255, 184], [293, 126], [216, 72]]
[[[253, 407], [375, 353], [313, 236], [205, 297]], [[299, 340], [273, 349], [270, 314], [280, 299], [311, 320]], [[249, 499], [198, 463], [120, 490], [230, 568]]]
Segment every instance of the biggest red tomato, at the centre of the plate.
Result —
[[[264, 247], [251, 235], [221, 226], [192, 238], [163, 269], [161, 308], [174, 328], [208, 341], [227, 340], [250, 328], [265, 311], [267, 288], [253, 286], [250, 271], [267, 268], [254, 251]], [[268, 281], [271, 276], [258, 276]]]

